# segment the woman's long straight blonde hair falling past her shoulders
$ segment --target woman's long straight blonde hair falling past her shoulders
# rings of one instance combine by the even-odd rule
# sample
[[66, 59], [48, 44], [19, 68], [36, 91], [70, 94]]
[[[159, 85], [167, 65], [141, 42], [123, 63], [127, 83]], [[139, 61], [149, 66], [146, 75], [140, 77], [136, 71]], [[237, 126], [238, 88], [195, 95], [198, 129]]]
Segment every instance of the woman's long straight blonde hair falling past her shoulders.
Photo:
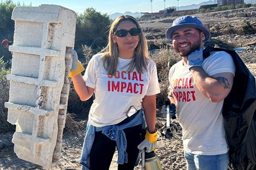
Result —
[[[122, 21], [132, 21], [137, 28], [141, 29], [141, 26], [137, 22], [137, 20], [130, 15], [121, 15], [112, 22], [109, 31], [108, 45], [105, 47], [103, 51], [108, 50], [103, 53], [102, 60], [103, 66], [107, 70], [108, 75], [114, 75], [117, 69], [118, 64], [118, 47], [117, 44], [113, 42], [111, 36], [116, 31], [117, 26]], [[146, 42], [146, 37], [141, 31], [139, 34], [139, 43], [134, 50], [134, 57], [132, 57], [132, 61], [128, 64], [128, 71], [132, 71], [134, 68], [137, 69], [138, 72], [143, 72], [143, 68], [147, 71], [147, 59], [150, 59], [148, 54], [148, 46]]]

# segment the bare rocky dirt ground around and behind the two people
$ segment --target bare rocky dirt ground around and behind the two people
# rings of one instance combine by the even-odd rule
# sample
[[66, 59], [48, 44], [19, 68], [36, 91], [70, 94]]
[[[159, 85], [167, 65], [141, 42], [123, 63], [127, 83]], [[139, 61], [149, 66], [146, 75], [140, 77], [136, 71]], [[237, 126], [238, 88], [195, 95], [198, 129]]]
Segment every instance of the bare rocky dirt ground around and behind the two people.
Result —
[[[256, 8], [242, 9], [244, 11], [255, 12]], [[231, 17], [228, 17], [230, 14]], [[252, 74], [256, 76], [256, 33], [237, 34], [240, 28], [244, 26], [244, 21], [249, 21], [252, 26], [256, 26], [256, 17], [232, 17], [233, 12], [221, 12], [198, 14], [197, 16], [209, 26], [212, 33], [212, 45], [216, 47], [244, 47], [244, 50], [238, 52]], [[237, 13], [237, 11], [236, 11]], [[172, 25], [174, 18], [163, 18], [150, 21], [141, 21], [143, 31], [146, 32], [148, 39], [157, 39], [164, 43], [170, 43], [164, 39], [166, 29]], [[233, 31], [232, 31], [233, 30]], [[171, 44], [169, 44], [171, 45]], [[158, 115], [158, 121], [164, 123], [161, 115]], [[176, 123], [176, 122], [174, 122]], [[178, 125], [178, 123], [177, 123]], [[178, 126], [177, 135], [172, 140], [167, 140], [162, 136], [158, 139], [158, 149], [156, 154], [161, 161], [163, 170], [185, 170], [186, 164], [183, 157], [183, 146], [181, 140], [181, 127]], [[12, 134], [0, 134], [0, 170], [43, 170], [40, 166], [18, 159], [13, 152]], [[61, 160], [51, 170], [79, 170], [79, 157], [84, 140], [84, 133], [65, 134], [63, 136], [63, 145]], [[100, 160], [99, 160], [100, 161]], [[110, 170], [117, 169], [116, 154], [111, 164]], [[137, 166], [135, 170], [140, 170]]]

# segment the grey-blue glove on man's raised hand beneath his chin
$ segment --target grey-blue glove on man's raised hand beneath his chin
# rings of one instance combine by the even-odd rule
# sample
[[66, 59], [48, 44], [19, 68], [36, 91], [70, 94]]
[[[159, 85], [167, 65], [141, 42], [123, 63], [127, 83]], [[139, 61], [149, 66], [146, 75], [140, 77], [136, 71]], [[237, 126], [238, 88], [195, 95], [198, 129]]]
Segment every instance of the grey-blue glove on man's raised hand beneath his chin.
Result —
[[191, 69], [192, 67], [201, 67], [201, 64], [203, 63], [203, 49], [196, 50], [191, 52], [188, 56], [188, 67]]

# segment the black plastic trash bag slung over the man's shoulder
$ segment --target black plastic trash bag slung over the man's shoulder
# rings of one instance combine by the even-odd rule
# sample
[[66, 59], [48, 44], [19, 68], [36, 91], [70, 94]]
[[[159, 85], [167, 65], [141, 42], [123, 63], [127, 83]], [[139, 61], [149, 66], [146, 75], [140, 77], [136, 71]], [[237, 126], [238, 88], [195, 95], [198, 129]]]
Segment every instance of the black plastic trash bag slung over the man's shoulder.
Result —
[[222, 115], [228, 145], [230, 170], [256, 170], [256, 85], [255, 78], [235, 51], [206, 47], [204, 58], [212, 51], [225, 51], [236, 67], [233, 87], [224, 99]]

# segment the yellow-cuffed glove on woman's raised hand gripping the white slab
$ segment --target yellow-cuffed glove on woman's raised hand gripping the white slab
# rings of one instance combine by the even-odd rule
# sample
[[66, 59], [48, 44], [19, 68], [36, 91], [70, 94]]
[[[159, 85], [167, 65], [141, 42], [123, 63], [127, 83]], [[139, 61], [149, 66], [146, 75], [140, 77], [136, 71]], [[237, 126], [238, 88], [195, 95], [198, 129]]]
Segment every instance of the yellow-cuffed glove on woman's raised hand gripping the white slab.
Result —
[[72, 62], [72, 68], [69, 72], [69, 77], [73, 77], [73, 76], [75, 76], [75, 75], [77, 75], [80, 72], [83, 72], [85, 70], [84, 66], [78, 60], [78, 56], [77, 56], [75, 50], [71, 50], [71, 57], [73, 59], [73, 62]]

